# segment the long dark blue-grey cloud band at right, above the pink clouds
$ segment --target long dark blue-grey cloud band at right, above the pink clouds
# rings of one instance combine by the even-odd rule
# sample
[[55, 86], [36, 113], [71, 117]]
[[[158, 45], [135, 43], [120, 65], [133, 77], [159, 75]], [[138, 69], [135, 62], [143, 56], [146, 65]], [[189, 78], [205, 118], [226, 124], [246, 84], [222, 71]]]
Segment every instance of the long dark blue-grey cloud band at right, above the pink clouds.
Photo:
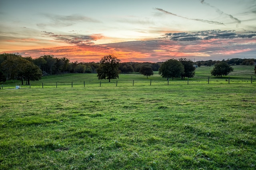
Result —
[[164, 39], [174, 41], [195, 41], [208, 39], [234, 39], [234, 38], [252, 38], [256, 37], [255, 32], [237, 34], [235, 31], [208, 30], [193, 33], [166, 33]]

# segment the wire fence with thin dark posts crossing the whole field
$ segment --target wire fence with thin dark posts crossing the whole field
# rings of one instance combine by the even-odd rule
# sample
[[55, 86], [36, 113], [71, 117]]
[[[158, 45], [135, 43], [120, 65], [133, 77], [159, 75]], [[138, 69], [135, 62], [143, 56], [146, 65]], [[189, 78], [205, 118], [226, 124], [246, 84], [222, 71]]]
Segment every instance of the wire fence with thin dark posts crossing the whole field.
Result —
[[21, 88], [86, 88], [86, 87], [114, 87], [114, 86], [163, 86], [163, 85], [184, 85], [184, 84], [237, 84], [237, 83], [250, 83], [253, 84], [256, 82], [256, 78], [245, 77], [243, 79], [232, 79], [228, 77], [227, 79], [212, 79], [208, 78], [200, 78], [193, 79], [187, 78], [186, 80], [152, 80], [148, 79], [148, 81], [142, 80], [112, 80], [108, 81], [98, 81], [98, 82], [90, 82], [90, 81], [79, 81], [79, 82], [42, 82], [37, 83], [33, 82], [29, 85], [20, 85], [16, 84], [15, 86], [2, 84], [0, 86], [1, 89], [21, 89]]

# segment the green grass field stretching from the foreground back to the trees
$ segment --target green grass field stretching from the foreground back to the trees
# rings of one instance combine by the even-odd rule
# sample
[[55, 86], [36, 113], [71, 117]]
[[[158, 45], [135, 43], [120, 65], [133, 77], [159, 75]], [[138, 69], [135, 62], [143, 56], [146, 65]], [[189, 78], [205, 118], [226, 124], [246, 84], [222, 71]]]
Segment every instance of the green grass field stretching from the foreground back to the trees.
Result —
[[[191, 84], [127, 74], [99, 87], [96, 74], [67, 74], [1, 89], [0, 169], [254, 170], [256, 83], [236, 72], [208, 84], [207, 69]], [[40, 87], [57, 80], [82, 85]]]

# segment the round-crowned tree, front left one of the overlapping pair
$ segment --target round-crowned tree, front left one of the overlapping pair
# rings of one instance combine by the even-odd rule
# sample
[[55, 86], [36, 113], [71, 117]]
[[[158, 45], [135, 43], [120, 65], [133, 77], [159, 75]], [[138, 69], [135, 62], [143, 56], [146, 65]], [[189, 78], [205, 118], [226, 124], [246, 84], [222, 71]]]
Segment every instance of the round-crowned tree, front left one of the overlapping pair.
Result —
[[184, 74], [184, 66], [178, 60], [170, 59], [162, 63], [158, 70], [158, 74], [164, 78], [180, 77]]

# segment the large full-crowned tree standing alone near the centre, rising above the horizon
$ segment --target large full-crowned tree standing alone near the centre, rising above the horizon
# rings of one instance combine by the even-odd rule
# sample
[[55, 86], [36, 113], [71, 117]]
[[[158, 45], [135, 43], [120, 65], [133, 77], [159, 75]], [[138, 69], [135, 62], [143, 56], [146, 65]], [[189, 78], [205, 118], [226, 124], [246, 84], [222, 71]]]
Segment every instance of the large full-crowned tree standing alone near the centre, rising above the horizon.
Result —
[[120, 70], [119, 68], [120, 60], [114, 55], [106, 55], [100, 60], [100, 66], [97, 68], [98, 79], [116, 79], [119, 78]]

